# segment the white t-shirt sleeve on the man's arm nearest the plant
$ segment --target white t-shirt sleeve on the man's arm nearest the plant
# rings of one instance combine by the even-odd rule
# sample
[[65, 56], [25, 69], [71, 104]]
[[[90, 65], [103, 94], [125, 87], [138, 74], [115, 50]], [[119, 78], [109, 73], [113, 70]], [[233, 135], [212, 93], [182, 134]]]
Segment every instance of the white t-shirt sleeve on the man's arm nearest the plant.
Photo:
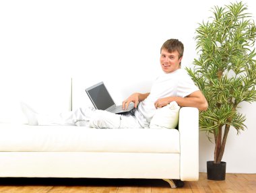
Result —
[[183, 75], [179, 78], [177, 96], [185, 98], [187, 95], [190, 95], [194, 91], [198, 90], [198, 87], [195, 85], [191, 77], [187, 73], [183, 73]]

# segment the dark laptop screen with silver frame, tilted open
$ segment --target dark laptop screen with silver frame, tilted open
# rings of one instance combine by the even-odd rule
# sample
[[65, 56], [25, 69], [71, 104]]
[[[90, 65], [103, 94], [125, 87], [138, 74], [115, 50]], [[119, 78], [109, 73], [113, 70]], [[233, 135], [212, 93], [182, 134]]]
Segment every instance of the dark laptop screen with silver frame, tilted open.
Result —
[[113, 106], [115, 102], [110, 97], [104, 83], [99, 83], [86, 89], [92, 103], [98, 110], [106, 110], [110, 106]]

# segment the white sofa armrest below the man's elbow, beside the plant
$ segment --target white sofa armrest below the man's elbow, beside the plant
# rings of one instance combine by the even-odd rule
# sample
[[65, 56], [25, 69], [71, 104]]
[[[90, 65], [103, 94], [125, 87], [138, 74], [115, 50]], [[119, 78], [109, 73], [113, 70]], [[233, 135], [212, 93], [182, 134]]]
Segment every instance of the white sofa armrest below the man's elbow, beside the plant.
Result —
[[179, 132], [181, 180], [196, 181], [199, 178], [199, 112], [197, 108], [181, 108]]

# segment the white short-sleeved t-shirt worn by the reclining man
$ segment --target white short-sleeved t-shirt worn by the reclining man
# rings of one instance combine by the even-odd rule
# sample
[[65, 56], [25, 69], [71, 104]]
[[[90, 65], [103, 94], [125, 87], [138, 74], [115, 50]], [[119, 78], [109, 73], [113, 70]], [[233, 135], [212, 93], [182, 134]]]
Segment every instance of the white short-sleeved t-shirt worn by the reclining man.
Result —
[[156, 100], [170, 96], [185, 98], [197, 90], [199, 90], [198, 87], [184, 69], [178, 69], [172, 73], [162, 73], [154, 81], [148, 98], [139, 103], [135, 116], [141, 126], [148, 127], [156, 112], [154, 106]]

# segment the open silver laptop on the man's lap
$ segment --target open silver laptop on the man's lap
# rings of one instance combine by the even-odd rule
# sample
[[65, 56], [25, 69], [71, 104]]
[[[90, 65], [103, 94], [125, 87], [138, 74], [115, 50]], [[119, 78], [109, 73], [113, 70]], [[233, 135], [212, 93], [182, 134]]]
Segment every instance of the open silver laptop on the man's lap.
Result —
[[86, 89], [86, 93], [88, 94], [94, 107], [98, 110], [106, 110], [115, 114], [122, 114], [125, 112], [129, 112], [134, 108], [133, 102], [129, 104], [126, 110], [124, 110], [122, 106], [116, 106], [103, 82], [88, 87]]

